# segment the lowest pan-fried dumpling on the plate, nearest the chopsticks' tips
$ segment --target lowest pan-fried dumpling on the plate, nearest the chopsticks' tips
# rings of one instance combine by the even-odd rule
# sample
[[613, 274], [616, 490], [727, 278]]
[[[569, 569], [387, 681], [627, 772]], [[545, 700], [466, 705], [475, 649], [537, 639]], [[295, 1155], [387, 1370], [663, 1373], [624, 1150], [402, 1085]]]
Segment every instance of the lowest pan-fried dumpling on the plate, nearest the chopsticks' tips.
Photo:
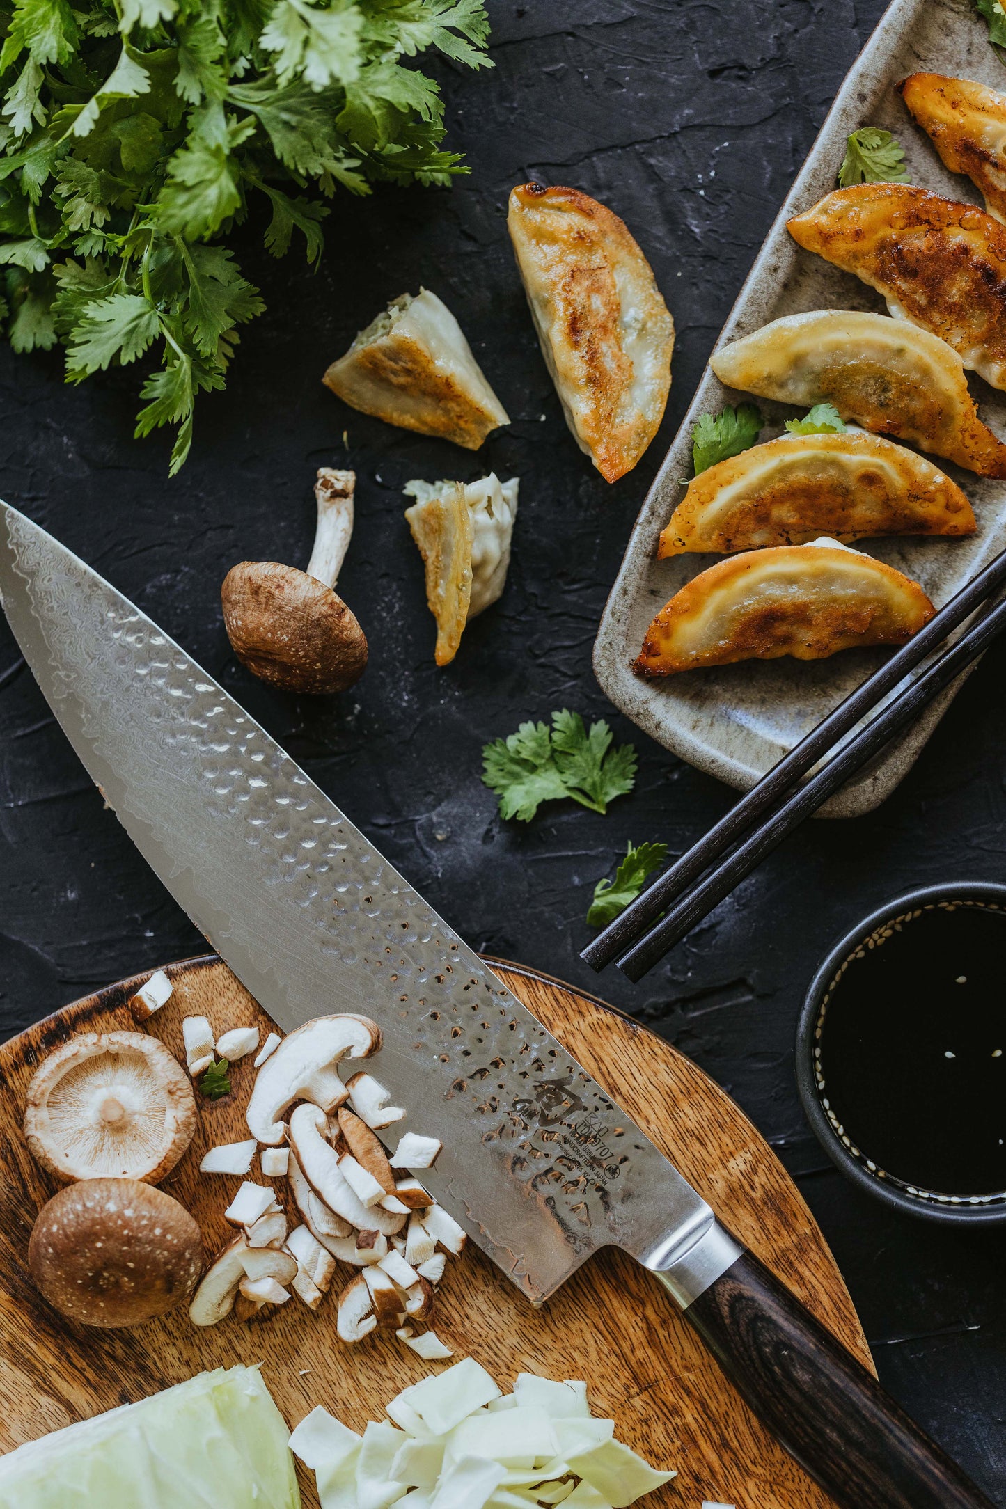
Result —
[[694, 576], [658, 613], [635, 662], [673, 676], [741, 659], [824, 659], [903, 644], [934, 614], [919, 582], [834, 540], [750, 551]]

